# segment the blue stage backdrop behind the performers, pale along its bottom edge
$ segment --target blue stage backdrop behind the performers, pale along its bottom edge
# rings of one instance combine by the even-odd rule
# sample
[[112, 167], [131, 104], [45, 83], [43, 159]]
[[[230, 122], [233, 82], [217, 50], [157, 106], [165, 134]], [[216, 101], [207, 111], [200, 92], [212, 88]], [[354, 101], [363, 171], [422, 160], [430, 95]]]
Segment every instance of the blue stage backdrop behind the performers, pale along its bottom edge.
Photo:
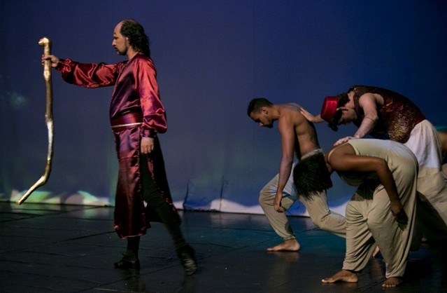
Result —
[[[365, 84], [410, 97], [445, 125], [446, 15], [441, 0], [1, 1], [0, 198], [15, 205], [45, 166], [43, 36], [58, 57], [118, 62], [113, 28], [141, 22], [168, 115], [160, 139], [176, 206], [260, 213], [258, 194], [278, 172], [281, 146], [276, 128], [248, 118], [248, 102], [297, 102], [318, 114], [326, 95]], [[71, 86], [54, 70], [52, 83], [52, 174], [24, 204], [113, 205], [112, 88]], [[316, 127], [325, 150], [355, 130]], [[353, 188], [332, 178], [329, 203], [344, 214]], [[290, 213], [306, 211], [297, 204]]]

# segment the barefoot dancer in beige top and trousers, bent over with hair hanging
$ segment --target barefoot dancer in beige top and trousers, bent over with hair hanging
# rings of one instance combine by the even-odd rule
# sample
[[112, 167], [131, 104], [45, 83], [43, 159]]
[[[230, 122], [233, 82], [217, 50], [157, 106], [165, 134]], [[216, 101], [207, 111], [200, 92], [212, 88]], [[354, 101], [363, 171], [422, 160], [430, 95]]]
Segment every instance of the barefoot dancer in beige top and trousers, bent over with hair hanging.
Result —
[[[382, 287], [402, 283], [416, 214], [418, 161], [403, 144], [390, 140], [350, 139], [325, 156], [329, 172], [358, 186], [346, 205], [346, 255], [343, 269], [322, 282], [357, 282], [378, 246], [385, 260]], [[301, 163], [304, 163], [301, 162]], [[304, 164], [294, 169], [297, 192], [320, 190], [306, 176]]]

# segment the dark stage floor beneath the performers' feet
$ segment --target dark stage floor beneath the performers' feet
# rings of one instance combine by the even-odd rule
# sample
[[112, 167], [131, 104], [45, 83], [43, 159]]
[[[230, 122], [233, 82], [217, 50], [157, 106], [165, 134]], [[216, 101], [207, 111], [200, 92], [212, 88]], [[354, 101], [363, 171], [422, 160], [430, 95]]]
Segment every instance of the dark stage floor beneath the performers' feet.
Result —
[[[141, 238], [141, 271], [113, 268], [125, 240], [112, 207], [0, 203], [0, 292], [383, 292], [382, 259], [357, 284], [323, 285], [339, 271], [344, 239], [292, 217], [300, 252], [268, 253], [281, 240], [264, 215], [183, 212], [199, 272], [186, 277], [162, 224]], [[445, 245], [445, 243], [444, 243]], [[447, 292], [444, 245], [412, 252], [405, 282], [387, 292]]]

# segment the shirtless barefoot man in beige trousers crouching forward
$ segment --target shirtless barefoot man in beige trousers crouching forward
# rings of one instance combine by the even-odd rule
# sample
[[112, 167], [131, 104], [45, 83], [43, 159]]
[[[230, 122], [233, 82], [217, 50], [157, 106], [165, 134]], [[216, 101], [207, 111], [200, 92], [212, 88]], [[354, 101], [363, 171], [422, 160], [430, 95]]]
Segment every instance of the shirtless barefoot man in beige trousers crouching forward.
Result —
[[292, 165], [295, 154], [300, 161], [315, 161], [313, 172], [318, 178], [319, 172], [327, 168], [315, 128], [300, 112], [298, 104], [273, 104], [265, 98], [253, 99], [248, 104], [248, 116], [261, 127], [273, 128], [278, 121], [278, 131], [281, 134], [281, 163], [279, 174], [264, 186], [260, 192], [260, 205], [269, 223], [283, 243], [269, 247], [269, 251], [298, 251], [299, 242], [285, 216], [292, 203], [300, 200], [307, 209], [313, 223], [320, 229], [344, 237], [346, 234], [345, 218], [341, 214], [331, 212], [327, 205], [326, 189], [332, 182], [321, 182], [320, 191], [315, 196], [304, 197], [295, 191], [292, 179]]

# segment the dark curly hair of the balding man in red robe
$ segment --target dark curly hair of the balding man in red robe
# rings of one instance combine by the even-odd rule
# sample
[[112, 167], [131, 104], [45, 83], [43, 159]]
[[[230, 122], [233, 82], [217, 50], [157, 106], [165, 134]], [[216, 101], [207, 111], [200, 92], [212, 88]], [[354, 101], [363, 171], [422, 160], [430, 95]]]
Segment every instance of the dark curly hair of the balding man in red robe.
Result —
[[123, 20], [120, 33], [129, 38], [129, 45], [134, 50], [150, 57], [149, 37], [144, 32], [144, 28], [136, 20]]

